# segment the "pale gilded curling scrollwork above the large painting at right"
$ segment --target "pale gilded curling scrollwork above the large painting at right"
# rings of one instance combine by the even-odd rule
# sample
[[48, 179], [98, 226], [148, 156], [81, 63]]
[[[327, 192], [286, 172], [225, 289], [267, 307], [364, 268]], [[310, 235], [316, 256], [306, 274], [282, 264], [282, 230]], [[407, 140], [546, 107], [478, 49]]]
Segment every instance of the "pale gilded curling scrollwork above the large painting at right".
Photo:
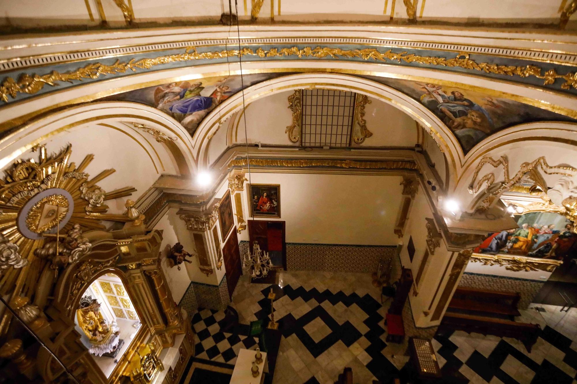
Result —
[[[500, 165], [503, 166], [503, 181], [497, 183], [496, 187], [493, 187], [492, 190], [489, 191], [490, 186], [493, 185], [495, 182], [495, 175], [493, 173], [489, 173], [484, 175], [481, 179], [477, 181], [475, 184], [475, 180], [477, 180], [477, 176], [481, 171], [481, 168], [485, 164], [490, 164], [494, 168], [499, 167]], [[541, 168], [543, 172], [547, 175], [563, 175], [563, 176], [572, 176], [569, 172], [577, 172], [577, 168], [573, 167], [566, 167], [564, 165], [554, 165], [553, 167], [547, 164], [545, 160], [545, 156], [538, 157], [531, 161], [531, 163], [523, 163], [519, 168], [519, 171], [512, 177], [509, 178], [509, 161], [507, 157], [501, 156], [499, 160], [495, 160], [492, 157], [484, 157], [479, 161], [477, 168], [475, 168], [475, 172], [473, 174], [473, 179], [471, 179], [471, 183], [469, 184], [469, 193], [477, 193], [483, 185], [486, 186], [487, 196], [475, 207], [475, 210], [484, 212], [489, 208], [493, 201], [496, 201], [504, 191], [513, 187], [516, 183], [519, 182], [526, 175], [528, 172], [536, 172], [538, 168]], [[565, 172], [562, 172], [565, 171]]]

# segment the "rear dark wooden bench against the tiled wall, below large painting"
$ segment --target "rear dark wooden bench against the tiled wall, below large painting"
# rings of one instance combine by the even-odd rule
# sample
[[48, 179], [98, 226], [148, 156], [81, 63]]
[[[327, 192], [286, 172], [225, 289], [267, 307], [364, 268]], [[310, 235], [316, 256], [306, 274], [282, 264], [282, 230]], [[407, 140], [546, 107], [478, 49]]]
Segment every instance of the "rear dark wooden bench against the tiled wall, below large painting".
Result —
[[517, 304], [521, 295], [517, 292], [490, 291], [488, 289], [457, 288], [448, 310], [474, 311], [477, 314], [497, 314], [511, 320], [519, 316]]

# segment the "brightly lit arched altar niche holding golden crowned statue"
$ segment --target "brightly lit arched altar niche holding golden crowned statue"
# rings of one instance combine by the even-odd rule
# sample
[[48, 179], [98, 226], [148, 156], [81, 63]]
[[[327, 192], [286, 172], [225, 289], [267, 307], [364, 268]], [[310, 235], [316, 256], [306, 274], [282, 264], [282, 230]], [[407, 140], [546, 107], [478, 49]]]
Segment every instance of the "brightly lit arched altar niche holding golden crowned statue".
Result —
[[107, 378], [142, 326], [121, 278], [114, 273], [92, 281], [80, 299], [74, 323]]

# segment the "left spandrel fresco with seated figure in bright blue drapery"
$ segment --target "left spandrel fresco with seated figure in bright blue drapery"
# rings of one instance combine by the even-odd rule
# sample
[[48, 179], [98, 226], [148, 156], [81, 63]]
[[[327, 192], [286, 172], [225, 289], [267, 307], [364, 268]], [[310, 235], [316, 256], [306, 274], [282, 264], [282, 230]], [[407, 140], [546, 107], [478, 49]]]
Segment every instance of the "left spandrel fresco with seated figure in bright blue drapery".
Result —
[[271, 78], [288, 73], [205, 77], [136, 89], [102, 100], [134, 101], [158, 108], [176, 119], [193, 135], [203, 119], [228, 97]]

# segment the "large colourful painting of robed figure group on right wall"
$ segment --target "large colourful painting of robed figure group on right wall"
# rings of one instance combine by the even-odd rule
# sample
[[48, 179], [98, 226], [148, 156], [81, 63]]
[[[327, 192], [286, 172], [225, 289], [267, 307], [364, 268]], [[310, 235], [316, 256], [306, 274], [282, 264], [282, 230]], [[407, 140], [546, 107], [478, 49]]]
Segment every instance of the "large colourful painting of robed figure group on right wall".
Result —
[[567, 261], [577, 252], [574, 223], [552, 212], [530, 212], [519, 216], [519, 228], [490, 234], [475, 253], [511, 254]]

